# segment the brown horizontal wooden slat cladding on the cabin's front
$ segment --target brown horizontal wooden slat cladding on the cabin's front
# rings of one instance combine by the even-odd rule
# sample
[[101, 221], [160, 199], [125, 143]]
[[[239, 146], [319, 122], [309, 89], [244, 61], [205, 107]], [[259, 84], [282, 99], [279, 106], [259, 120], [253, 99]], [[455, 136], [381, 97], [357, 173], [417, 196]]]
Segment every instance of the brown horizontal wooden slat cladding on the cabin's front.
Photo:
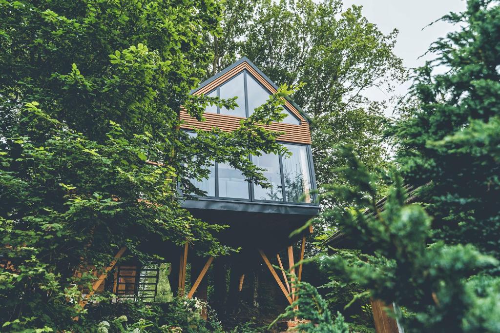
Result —
[[[227, 71], [220, 77], [216, 78], [212, 82], [203, 86], [202, 88], [196, 90], [193, 94], [199, 95], [202, 93], [208, 93], [215, 87], [219, 86], [223, 82], [229, 80], [231, 77], [239, 74], [242, 70], [246, 69], [253, 77], [255, 77], [264, 87], [266, 87], [271, 93], [275, 93], [276, 89], [270, 85], [266, 80], [264, 80], [260, 74], [258, 74], [246, 61]], [[298, 112], [298, 110], [288, 101], [285, 101], [285, 106], [290, 110], [297, 118], [300, 119], [300, 125], [285, 124], [285, 123], [272, 123], [271, 125], [264, 126], [264, 128], [273, 131], [284, 131], [285, 133], [279, 137], [279, 140], [294, 143], [310, 144], [310, 129], [309, 124], [304, 119], [304, 117]], [[183, 124], [180, 126], [183, 129], [202, 129], [210, 130], [213, 127], [218, 127], [222, 131], [231, 132], [239, 127], [239, 121], [241, 117], [226, 115], [226, 114], [216, 114], [216, 113], [204, 113], [205, 121], [197, 121], [196, 119], [190, 117], [184, 110], [180, 111], [180, 119]]]

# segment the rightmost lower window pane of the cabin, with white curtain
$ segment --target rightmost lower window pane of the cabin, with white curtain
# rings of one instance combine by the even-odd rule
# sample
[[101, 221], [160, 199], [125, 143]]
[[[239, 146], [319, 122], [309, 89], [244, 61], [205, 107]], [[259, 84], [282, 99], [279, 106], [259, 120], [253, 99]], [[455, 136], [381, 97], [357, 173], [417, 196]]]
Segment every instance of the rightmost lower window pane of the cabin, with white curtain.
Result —
[[284, 145], [292, 155], [283, 158], [286, 201], [312, 202], [307, 150], [305, 146]]

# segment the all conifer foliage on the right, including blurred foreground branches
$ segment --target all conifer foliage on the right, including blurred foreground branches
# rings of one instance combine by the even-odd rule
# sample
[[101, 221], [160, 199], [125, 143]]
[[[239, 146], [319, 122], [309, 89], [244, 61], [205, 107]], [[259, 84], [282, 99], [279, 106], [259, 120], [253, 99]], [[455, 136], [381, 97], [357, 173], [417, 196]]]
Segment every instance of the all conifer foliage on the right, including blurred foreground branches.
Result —
[[[445, 16], [460, 28], [433, 44], [437, 60], [418, 69], [404, 116], [389, 129], [396, 169], [374, 174], [347, 149], [339, 175], [348, 185], [324, 186], [324, 195], [354, 203], [322, 219], [356, 251], [336, 249], [321, 264], [400, 306], [405, 332], [500, 332], [499, 17], [493, 0]], [[393, 185], [377, 205], [380, 178]], [[425, 211], [406, 203], [404, 183], [421, 186]]]

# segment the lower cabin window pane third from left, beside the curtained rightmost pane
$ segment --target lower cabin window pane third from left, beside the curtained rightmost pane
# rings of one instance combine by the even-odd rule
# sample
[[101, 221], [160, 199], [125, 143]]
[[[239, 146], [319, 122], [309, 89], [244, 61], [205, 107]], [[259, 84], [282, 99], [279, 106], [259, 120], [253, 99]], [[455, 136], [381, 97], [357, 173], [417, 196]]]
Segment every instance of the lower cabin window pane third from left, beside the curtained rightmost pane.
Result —
[[263, 174], [267, 178], [267, 182], [272, 186], [264, 189], [262, 186], [253, 185], [255, 200], [283, 201], [278, 155], [263, 154], [262, 156], [252, 156], [252, 161], [256, 166], [266, 169]]

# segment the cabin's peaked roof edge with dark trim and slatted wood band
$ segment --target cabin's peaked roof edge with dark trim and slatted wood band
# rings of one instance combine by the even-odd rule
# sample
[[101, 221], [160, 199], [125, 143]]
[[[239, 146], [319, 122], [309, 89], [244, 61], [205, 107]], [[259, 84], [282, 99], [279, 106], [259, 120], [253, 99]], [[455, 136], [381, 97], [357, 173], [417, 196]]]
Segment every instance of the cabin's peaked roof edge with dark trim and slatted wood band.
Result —
[[[228, 81], [230, 78], [234, 77], [244, 69], [247, 69], [249, 72], [251, 72], [252, 75], [256, 76], [256, 78], [259, 79], [259, 81], [261, 81], [265, 88], [267, 90], [270, 90], [271, 93], [275, 93], [277, 91], [278, 86], [270, 78], [262, 73], [262, 71], [258, 69], [257, 66], [255, 66], [253, 62], [251, 62], [247, 57], [242, 57], [233, 64], [219, 71], [217, 74], [201, 82], [200, 85], [197, 88], [192, 89], [190, 93], [207, 93], [211, 91], [213, 87], [218, 86], [225, 81]], [[307, 121], [307, 123], [311, 123], [311, 119], [309, 118], [309, 116], [300, 108], [300, 106], [295, 104], [295, 102], [293, 102], [291, 98], [287, 97], [286, 101], [288, 102], [286, 103], [287, 108], [295, 113], [295, 115], [300, 115], [303, 119], [305, 119], [305, 121]]]

